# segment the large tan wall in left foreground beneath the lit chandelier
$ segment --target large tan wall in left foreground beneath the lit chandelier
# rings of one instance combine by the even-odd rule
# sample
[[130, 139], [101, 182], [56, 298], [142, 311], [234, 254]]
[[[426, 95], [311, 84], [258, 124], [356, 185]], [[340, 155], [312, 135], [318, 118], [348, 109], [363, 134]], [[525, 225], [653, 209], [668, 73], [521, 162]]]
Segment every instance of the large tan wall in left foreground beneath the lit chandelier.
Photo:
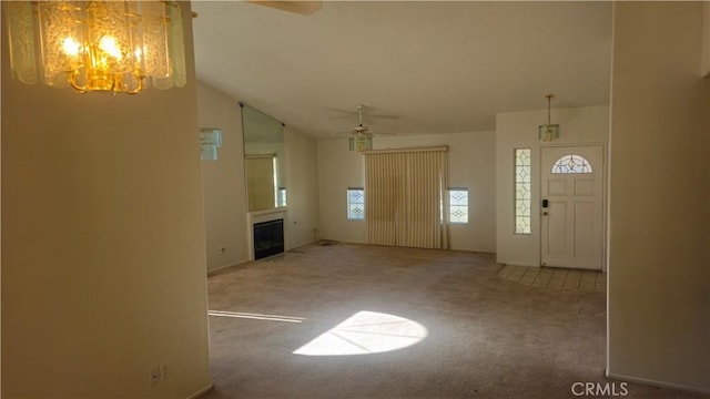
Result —
[[[2, 40], [3, 398], [187, 398], [211, 385], [181, 4], [182, 89], [26, 85], [10, 78]], [[161, 365], [169, 378], [151, 386]]]

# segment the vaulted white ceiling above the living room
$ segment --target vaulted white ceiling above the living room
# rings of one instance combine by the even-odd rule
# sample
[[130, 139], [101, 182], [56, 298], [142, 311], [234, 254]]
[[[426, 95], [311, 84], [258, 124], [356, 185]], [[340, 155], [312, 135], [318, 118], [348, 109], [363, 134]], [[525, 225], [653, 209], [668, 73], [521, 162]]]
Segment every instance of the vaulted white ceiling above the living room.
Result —
[[[193, 1], [197, 79], [314, 136], [495, 129], [499, 112], [607, 104], [611, 3], [326, 1], [300, 16]], [[389, 117], [373, 117], [373, 115]], [[544, 122], [544, 121], [540, 121]]]

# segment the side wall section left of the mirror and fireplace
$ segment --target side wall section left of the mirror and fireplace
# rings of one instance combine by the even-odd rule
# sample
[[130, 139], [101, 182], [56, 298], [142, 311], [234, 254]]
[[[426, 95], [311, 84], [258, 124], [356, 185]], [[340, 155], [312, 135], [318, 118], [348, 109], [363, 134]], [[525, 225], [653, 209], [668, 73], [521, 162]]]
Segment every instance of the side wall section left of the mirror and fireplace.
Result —
[[222, 130], [217, 160], [202, 161], [207, 270], [214, 270], [248, 259], [242, 112], [235, 100], [197, 82], [197, 117], [201, 127]]

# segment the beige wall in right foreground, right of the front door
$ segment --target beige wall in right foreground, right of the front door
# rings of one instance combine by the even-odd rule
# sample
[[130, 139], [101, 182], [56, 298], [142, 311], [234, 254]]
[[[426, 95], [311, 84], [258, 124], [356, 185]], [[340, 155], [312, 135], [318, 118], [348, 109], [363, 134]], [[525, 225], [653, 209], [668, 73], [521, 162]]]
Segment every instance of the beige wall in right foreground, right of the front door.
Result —
[[607, 370], [710, 391], [702, 7], [615, 3]]

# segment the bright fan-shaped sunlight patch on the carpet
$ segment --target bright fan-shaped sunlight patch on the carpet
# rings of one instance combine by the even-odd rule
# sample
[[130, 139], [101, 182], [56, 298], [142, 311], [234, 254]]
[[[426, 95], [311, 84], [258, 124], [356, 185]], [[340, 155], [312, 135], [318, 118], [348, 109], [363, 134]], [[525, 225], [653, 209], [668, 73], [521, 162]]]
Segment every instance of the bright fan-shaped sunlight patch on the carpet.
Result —
[[369, 355], [413, 346], [428, 335], [423, 325], [377, 311], [358, 311], [296, 349], [294, 355]]

